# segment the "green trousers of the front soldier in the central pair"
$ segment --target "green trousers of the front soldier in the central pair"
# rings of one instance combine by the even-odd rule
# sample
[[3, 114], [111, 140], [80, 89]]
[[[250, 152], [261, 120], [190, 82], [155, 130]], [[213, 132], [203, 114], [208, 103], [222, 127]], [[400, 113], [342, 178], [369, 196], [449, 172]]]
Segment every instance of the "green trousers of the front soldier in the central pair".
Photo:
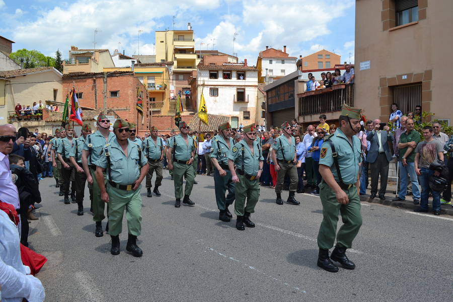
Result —
[[[255, 205], [260, 196], [260, 184], [258, 179], [250, 180], [244, 175], [239, 175], [239, 183], [235, 186], [235, 214], [244, 216], [244, 210], [249, 213], [255, 212]], [[247, 198], [247, 205], [246, 203]], [[245, 205], [245, 207], [244, 207]]]

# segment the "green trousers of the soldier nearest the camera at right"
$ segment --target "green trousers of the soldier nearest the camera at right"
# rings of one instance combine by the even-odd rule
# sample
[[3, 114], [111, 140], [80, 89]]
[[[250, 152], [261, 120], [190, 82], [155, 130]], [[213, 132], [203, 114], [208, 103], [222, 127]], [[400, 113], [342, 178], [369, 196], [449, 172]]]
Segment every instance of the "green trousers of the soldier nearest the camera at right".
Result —
[[[349, 197], [349, 203], [341, 204], [338, 203], [335, 192], [324, 181], [319, 187], [323, 204], [323, 222], [319, 228], [318, 246], [320, 249], [328, 250], [333, 247], [336, 237], [337, 245], [350, 249], [362, 225], [357, 188], [352, 186], [349, 190], [343, 190]], [[344, 224], [336, 234], [339, 213]]]

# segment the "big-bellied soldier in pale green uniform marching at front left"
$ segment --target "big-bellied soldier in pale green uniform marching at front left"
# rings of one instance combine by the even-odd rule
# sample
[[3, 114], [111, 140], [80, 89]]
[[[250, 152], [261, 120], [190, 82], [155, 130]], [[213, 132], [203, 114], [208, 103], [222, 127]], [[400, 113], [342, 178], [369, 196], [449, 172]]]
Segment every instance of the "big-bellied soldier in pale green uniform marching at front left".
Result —
[[[101, 199], [109, 203], [109, 234], [112, 238], [110, 253], [120, 253], [119, 234], [124, 209], [126, 209], [128, 239], [126, 250], [134, 257], [141, 257], [137, 236], [141, 232], [141, 181], [148, 173], [148, 163], [139, 145], [128, 139], [129, 123], [117, 119], [113, 124], [116, 138], [104, 146], [96, 162], [96, 178], [101, 189]], [[104, 173], [107, 170], [107, 185]]]

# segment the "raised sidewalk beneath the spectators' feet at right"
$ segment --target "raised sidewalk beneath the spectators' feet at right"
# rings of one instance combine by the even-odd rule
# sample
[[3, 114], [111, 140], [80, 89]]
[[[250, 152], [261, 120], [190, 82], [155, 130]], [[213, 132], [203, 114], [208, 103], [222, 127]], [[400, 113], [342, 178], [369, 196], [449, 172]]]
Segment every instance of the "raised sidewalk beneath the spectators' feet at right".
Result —
[[[412, 201], [412, 195], [406, 196], [406, 200], [404, 201], [392, 201], [393, 198], [396, 197], [393, 192], [396, 190], [396, 184], [394, 181], [389, 181], [387, 182], [387, 191], [385, 194], [386, 200], [381, 200], [379, 199], [378, 196], [376, 196], [373, 199], [369, 198], [369, 195], [371, 194], [370, 192], [370, 186], [371, 186], [371, 180], [370, 183], [368, 184], [368, 188], [366, 189], [366, 194], [360, 196], [360, 201], [366, 201], [366, 202], [372, 202], [372, 203], [380, 203], [383, 205], [390, 205], [394, 207], [399, 207], [399, 208], [405, 208], [408, 210], [414, 210], [419, 207], [418, 204], [414, 204]], [[381, 182], [378, 185], [378, 191], [379, 188], [381, 188]], [[428, 213], [432, 213], [432, 198], [428, 199]], [[441, 205], [441, 215], [452, 215], [453, 216], [453, 207], [450, 204], [442, 204]]]

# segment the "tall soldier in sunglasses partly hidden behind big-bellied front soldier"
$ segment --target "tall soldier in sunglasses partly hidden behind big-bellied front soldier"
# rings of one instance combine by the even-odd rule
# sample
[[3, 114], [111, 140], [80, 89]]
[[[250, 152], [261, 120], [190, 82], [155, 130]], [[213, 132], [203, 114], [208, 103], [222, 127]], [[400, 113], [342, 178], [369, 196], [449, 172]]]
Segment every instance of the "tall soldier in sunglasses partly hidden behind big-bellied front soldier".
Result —
[[[82, 148], [82, 164], [84, 166], [85, 175], [87, 175], [88, 184], [93, 186], [93, 201], [92, 212], [93, 220], [96, 222], [95, 236], [102, 237], [102, 220], [105, 218], [104, 209], [105, 203], [101, 200], [101, 190], [96, 179], [96, 162], [99, 159], [106, 143], [110, 143], [115, 138], [115, 134], [109, 131], [110, 120], [101, 111], [96, 121], [98, 130], [87, 136]], [[105, 175], [104, 175], [105, 179]], [[107, 204], [107, 213], [109, 205]], [[106, 232], [108, 231], [108, 222]]]

